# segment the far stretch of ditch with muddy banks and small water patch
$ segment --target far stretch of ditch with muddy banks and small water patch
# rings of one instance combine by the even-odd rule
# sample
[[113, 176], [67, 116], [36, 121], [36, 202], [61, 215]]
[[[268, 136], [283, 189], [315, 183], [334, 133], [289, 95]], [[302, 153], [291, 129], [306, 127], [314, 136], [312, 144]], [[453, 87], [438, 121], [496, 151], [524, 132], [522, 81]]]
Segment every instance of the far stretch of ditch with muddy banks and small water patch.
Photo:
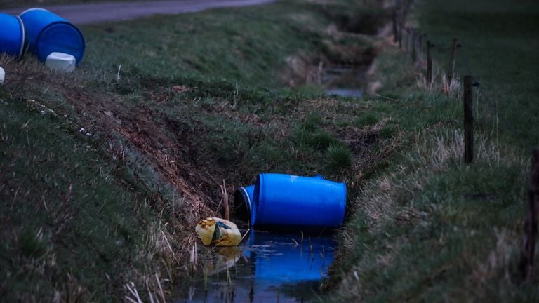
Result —
[[376, 56], [388, 43], [390, 14], [381, 7], [368, 11], [345, 11], [335, 6], [320, 9], [332, 20], [324, 30], [331, 38], [321, 41], [318, 53], [286, 58], [288, 67], [281, 72], [284, 83], [291, 87], [319, 86], [328, 95], [374, 94], [379, 86], [370, 76]]

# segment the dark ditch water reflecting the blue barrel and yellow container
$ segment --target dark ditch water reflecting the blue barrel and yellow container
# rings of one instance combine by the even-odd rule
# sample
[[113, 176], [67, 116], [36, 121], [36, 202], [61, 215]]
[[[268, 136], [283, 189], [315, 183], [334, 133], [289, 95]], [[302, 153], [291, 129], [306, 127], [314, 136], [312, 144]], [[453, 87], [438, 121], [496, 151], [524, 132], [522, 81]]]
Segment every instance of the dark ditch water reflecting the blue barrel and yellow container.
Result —
[[175, 302], [312, 302], [334, 248], [331, 237], [251, 232], [239, 249], [215, 250]]

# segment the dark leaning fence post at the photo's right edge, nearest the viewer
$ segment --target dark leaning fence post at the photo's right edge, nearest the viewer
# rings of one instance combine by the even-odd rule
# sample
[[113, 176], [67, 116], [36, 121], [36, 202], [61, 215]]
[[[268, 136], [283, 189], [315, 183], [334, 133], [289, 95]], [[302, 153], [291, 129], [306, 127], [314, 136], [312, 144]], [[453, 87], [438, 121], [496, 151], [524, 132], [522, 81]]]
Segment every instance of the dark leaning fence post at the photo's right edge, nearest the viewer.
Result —
[[526, 281], [531, 276], [533, 255], [535, 254], [535, 238], [537, 237], [537, 224], [539, 217], [539, 149], [533, 150], [531, 161], [530, 189], [528, 191], [528, 213], [524, 220], [524, 237], [520, 255], [520, 270], [522, 278]]

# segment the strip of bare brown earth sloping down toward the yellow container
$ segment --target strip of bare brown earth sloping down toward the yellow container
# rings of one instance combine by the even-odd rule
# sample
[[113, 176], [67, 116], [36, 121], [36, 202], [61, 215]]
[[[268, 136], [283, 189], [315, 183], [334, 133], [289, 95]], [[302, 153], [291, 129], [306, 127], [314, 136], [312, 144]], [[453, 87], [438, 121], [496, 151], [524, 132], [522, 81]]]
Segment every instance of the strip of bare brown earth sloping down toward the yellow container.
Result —
[[192, 129], [183, 128], [179, 134], [181, 137], [171, 138], [166, 135], [164, 126], [173, 126], [172, 131], [178, 131], [178, 126], [171, 123], [162, 125], [161, 117], [149, 107], [128, 107], [118, 97], [97, 92], [64, 90], [62, 94], [83, 117], [81, 123], [92, 123], [93, 127], [102, 128], [108, 140], [113, 140], [112, 135], [118, 133], [144, 155], [147, 163], [191, 202], [188, 204], [192, 205], [195, 217], [211, 215], [207, 207], [213, 201], [209, 187], [219, 182], [212, 177], [213, 174], [195, 170], [192, 163], [186, 161], [190, 152], [186, 148], [189, 147], [189, 137], [194, 135]]

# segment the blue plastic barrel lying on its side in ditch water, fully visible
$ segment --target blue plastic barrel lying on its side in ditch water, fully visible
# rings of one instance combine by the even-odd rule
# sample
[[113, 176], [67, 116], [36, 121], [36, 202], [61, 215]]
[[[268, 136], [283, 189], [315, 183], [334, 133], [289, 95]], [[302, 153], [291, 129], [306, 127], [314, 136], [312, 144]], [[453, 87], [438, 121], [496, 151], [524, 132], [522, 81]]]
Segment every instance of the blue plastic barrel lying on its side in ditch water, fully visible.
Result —
[[316, 177], [261, 173], [251, 210], [253, 227], [333, 228], [342, 225], [346, 184]]

